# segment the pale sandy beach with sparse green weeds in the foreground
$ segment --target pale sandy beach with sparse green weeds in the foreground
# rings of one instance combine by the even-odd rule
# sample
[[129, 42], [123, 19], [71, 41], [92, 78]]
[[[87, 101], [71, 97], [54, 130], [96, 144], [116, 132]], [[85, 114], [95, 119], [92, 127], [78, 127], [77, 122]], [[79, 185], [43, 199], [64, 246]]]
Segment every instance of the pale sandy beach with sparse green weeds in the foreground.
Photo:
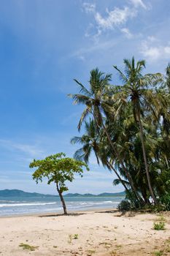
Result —
[[[154, 222], [165, 230], [154, 230]], [[0, 255], [170, 255], [170, 216], [79, 211], [0, 218]], [[157, 252], [163, 254], [156, 254]]]

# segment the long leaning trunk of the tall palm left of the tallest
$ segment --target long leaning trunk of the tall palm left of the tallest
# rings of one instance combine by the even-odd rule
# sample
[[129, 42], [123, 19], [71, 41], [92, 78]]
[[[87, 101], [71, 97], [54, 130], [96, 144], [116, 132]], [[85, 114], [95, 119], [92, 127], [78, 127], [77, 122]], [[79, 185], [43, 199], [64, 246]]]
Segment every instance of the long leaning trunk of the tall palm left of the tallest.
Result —
[[107, 128], [105, 127], [104, 122], [102, 120], [101, 120], [101, 124], [102, 124], [102, 127], [104, 129], [105, 134], [107, 135], [107, 139], [109, 140], [110, 146], [112, 147], [112, 150], [115, 152], [117, 159], [119, 159], [120, 164], [122, 165], [123, 170], [125, 171], [125, 176], [128, 178], [129, 184], [131, 185], [131, 188], [134, 190], [134, 195], [135, 195], [136, 199], [139, 200], [144, 205], [145, 202], [144, 202], [143, 198], [137, 192], [137, 189], [136, 189], [136, 187], [134, 185], [134, 181], [131, 178], [131, 175], [126, 170], [125, 165], [123, 164], [123, 161], [120, 158], [120, 155], [118, 154], [117, 150], [115, 149], [115, 146], [113, 145], [112, 140], [109, 137], [109, 133], [107, 132]]

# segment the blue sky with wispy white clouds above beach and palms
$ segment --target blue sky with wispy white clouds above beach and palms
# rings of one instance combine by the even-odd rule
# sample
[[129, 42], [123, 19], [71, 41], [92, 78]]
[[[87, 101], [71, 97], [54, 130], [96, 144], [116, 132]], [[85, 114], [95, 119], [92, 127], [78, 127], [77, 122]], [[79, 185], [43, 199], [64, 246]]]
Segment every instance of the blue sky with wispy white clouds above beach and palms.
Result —
[[[88, 86], [90, 70], [112, 73], [123, 59], [145, 59], [146, 72], [165, 72], [170, 61], [170, 1], [0, 0], [0, 189], [55, 194], [36, 185], [29, 163], [50, 154], [73, 157], [83, 106], [67, 94], [74, 78]], [[81, 135], [81, 133], [80, 133]], [[69, 192], [120, 192], [95, 157]]]

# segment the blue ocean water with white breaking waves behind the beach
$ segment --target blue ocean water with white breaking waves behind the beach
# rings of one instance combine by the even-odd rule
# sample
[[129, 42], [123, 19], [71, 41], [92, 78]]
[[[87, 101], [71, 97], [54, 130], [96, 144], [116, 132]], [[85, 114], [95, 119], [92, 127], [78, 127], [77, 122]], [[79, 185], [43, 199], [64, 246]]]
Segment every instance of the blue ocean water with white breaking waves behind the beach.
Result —
[[[68, 211], [116, 208], [123, 197], [65, 197]], [[56, 212], [61, 213], [59, 197], [0, 197], [0, 217]]]

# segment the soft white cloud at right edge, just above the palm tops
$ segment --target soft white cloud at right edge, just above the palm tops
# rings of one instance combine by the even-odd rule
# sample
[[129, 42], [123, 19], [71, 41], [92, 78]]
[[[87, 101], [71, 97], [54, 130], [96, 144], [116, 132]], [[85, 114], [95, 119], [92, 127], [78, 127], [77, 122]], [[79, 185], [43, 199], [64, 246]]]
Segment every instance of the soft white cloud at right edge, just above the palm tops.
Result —
[[170, 58], [170, 42], [166, 45], [161, 45], [155, 37], [147, 37], [147, 40], [142, 42], [140, 52], [144, 58], [150, 61], [158, 61], [158, 59]]

